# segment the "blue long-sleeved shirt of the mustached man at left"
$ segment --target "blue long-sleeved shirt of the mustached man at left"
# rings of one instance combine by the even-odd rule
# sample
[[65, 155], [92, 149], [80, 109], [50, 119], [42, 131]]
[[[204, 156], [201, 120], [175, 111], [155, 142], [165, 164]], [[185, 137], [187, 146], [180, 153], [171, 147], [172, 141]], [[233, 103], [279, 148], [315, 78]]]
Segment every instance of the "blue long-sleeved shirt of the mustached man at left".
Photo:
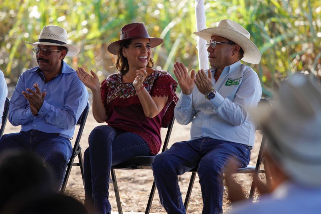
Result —
[[[9, 121], [13, 126], [21, 125], [21, 131], [35, 129], [72, 138], [77, 120], [87, 105], [86, 87], [75, 70], [64, 61], [61, 74], [47, 83], [38, 75], [38, 68], [31, 68], [20, 75], [10, 100]], [[47, 93], [37, 116], [31, 113], [29, 101], [22, 94], [27, 88], [35, 90], [35, 83], [41, 92]]]

